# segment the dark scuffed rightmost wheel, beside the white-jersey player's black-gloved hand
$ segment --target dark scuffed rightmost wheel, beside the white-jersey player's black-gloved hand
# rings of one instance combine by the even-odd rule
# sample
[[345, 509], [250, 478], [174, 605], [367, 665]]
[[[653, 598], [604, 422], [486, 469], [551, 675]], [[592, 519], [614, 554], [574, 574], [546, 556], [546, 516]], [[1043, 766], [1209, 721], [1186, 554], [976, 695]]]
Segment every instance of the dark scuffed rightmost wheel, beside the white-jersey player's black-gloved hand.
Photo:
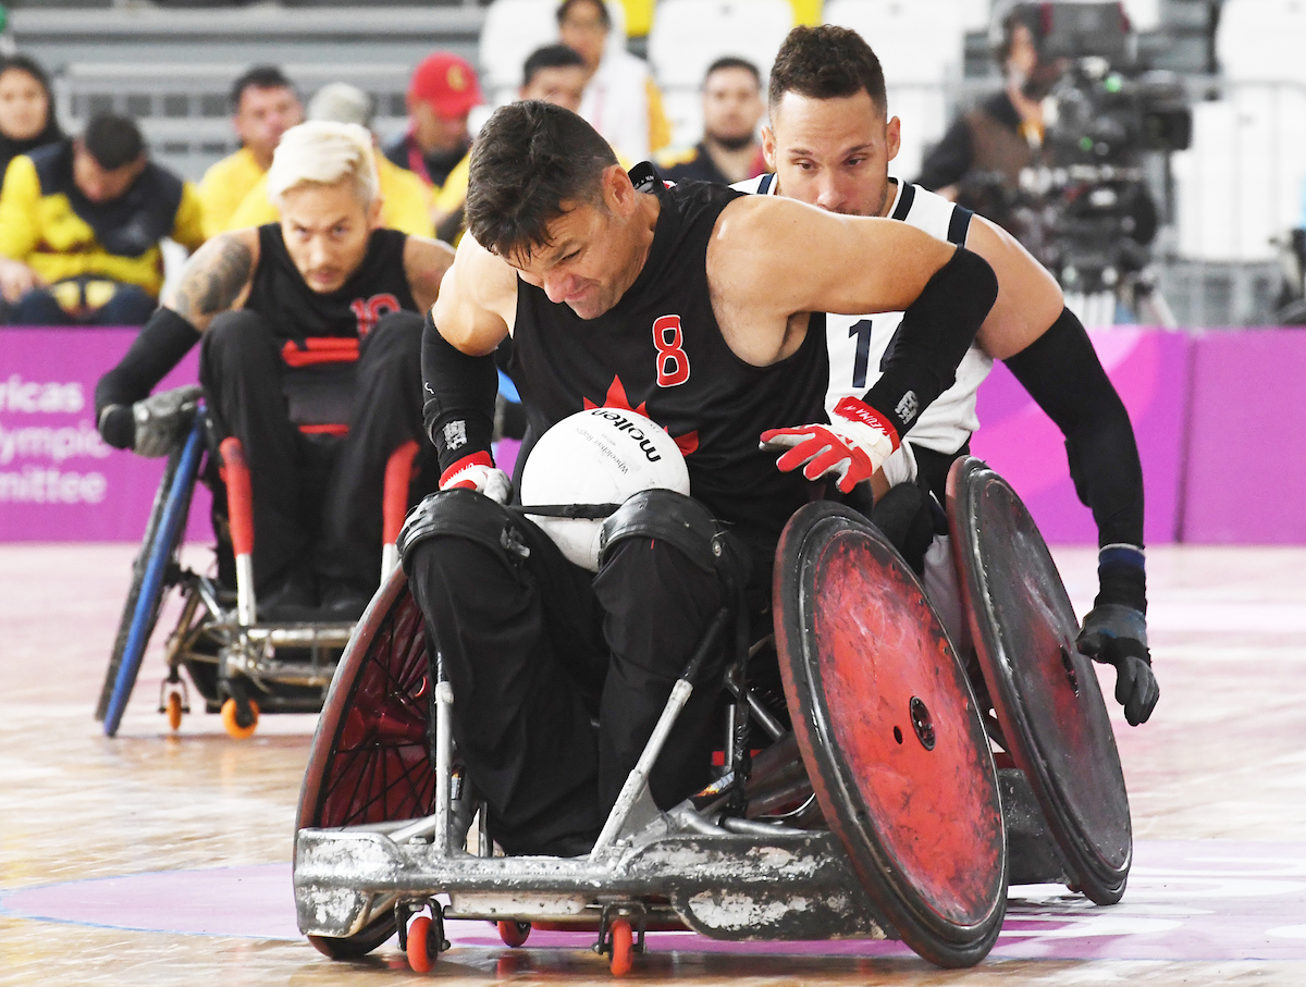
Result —
[[1029, 779], [1072, 884], [1106, 905], [1132, 860], [1128, 795], [1079, 621], [1016, 492], [982, 461], [948, 474], [948, 524], [994, 712]]

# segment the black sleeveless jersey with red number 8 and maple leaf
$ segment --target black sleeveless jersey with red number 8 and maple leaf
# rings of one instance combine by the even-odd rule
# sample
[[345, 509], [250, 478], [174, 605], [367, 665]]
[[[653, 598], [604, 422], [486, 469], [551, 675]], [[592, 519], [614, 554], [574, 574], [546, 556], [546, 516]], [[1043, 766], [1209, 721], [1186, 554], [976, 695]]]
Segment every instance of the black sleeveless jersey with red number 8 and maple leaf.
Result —
[[771, 367], [741, 360], [721, 336], [707, 275], [717, 217], [741, 193], [703, 181], [653, 191], [662, 204], [653, 245], [611, 311], [582, 320], [517, 279], [512, 376], [530, 432], [594, 406], [646, 415], [686, 453], [691, 494], [755, 550], [773, 551], [811, 484], [777, 470], [757, 436], [823, 420], [824, 333], [814, 325]]

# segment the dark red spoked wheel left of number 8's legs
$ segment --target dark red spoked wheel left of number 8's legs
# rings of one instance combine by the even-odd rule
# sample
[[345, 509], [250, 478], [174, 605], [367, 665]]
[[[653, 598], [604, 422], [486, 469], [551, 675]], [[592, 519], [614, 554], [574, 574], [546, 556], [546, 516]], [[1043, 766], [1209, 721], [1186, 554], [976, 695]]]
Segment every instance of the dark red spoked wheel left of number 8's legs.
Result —
[[[313, 734], [295, 828], [388, 822], [435, 812], [430, 710], [424, 621], [404, 571], [396, 569], [340, 658]], [[350, 960], [392, 935], [394, 914], [387, 910], [353, 936], [308, 936], [308, 941], [333, 960]]]

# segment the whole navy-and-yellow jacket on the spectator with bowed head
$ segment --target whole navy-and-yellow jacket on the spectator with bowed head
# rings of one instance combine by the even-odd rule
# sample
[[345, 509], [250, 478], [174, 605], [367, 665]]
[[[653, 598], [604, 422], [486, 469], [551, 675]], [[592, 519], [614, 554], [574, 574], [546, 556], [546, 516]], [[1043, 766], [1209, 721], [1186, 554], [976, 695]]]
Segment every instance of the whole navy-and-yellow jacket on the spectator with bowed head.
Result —
[[22, 261], [47, 282], [94, 275], [163, 286], [159, 240], [204, 243], [195, 185], [150, 162], [120, 198], [89, 202], [72, 178], [72, 141], [21, 154], [0, 191], [0, 256]]

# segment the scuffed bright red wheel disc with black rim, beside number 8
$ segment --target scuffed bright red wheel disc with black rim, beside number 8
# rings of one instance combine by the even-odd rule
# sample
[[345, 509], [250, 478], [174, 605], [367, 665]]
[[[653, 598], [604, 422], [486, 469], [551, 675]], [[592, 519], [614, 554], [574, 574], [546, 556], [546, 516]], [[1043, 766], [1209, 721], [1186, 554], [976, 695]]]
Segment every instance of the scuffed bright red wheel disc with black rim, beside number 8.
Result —
[[773, 603], [803, 761], [863, 888], [931, 962], [978, 962], [1006, 911], [1006, 832], [983, 723], [925, 591], [878, 529], [821, 501], [781, 535]]

